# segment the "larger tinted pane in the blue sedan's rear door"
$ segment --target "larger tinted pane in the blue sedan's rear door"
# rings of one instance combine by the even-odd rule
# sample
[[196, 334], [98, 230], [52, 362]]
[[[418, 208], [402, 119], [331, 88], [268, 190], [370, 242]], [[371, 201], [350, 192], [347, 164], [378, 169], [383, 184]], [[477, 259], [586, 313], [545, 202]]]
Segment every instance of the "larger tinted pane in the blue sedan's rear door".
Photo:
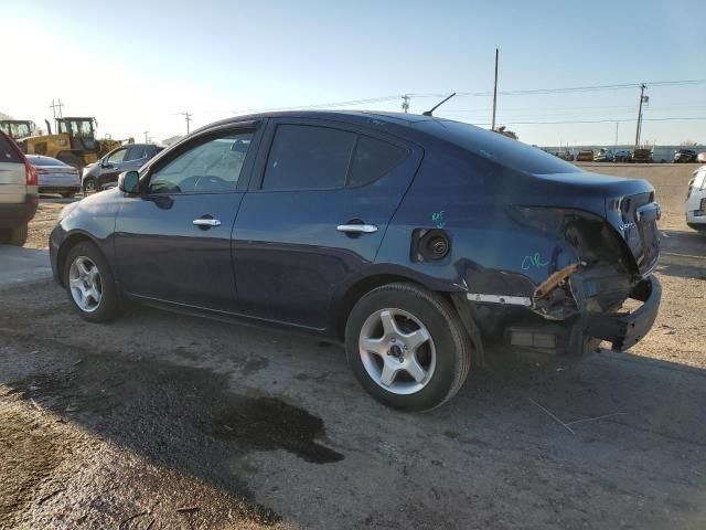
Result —
[[267, 158], [263, 189], [342, 188], [355, 136], [328, 127], [278, 126]]

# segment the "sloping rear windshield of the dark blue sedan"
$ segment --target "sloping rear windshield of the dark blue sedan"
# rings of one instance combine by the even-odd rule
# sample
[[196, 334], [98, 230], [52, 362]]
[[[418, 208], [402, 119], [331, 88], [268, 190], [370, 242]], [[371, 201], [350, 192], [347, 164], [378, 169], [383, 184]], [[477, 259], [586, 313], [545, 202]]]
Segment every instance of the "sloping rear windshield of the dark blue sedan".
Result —
[[448, 119], [428, 119], [415, 124], [419, 129], [456, 144], [473, 155], [517, 171], [534, 174], [579, 173], [573, 163], [542, 149], [506, 138], [503, 135]]

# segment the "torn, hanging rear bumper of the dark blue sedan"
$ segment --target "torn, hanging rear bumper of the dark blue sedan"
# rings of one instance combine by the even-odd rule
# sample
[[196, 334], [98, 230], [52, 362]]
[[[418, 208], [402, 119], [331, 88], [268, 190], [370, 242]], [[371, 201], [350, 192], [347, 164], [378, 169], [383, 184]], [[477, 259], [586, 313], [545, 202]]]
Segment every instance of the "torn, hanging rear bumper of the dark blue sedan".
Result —
[[632, 312], [587, 314], [584, 335], [607, 340], [618, 351], [637, 344], [652, 329], [657, 317], [662, 286], [654, 276], [650, 276], [634, 287], [630, 298], [642, 301], [642, 306]]

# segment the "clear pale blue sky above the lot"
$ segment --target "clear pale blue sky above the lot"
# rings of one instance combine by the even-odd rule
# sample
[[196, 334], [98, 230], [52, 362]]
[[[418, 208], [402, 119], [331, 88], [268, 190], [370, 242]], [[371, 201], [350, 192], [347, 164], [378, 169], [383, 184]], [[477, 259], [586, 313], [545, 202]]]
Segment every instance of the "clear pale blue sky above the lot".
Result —
[[[499, 125], [528, 144], [611, 145], [616, 120], [633, 120], [618, 125], [619, 142], [632, 142], [635, 87], [502, 92], [706, 80], [699, 3], [0, 0], [0, 112], [43, 126], [61, 98], [65, 115], [96, 116], [100, 136], [149, 130], [159, 141], [185, 131], [182, 112], [200, 126], [249, 109], [486, 93], [499, 47]], [[706, 119], [659, 120], [706, 117], [706, 83], [646, 94], [644, 139], [706, 142]], [[436, 99], [413, 97], [410, 112]], [[457, 97], [436, 114], [486, 127], [491, 97]]]

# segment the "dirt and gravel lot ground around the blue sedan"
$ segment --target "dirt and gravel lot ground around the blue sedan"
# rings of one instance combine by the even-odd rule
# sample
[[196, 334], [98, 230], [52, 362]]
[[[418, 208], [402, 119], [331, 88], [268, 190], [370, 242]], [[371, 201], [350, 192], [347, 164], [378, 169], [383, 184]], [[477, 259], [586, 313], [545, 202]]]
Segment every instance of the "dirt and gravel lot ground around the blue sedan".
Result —
[[51, 282], [0, 290], [0, 528], [706, 528], [692, 168], [603, 169], [665, 209], [650, 336], [499, 362], [428, 414], [368, 399], [338, 346], [140, 308], [89, 325]]

